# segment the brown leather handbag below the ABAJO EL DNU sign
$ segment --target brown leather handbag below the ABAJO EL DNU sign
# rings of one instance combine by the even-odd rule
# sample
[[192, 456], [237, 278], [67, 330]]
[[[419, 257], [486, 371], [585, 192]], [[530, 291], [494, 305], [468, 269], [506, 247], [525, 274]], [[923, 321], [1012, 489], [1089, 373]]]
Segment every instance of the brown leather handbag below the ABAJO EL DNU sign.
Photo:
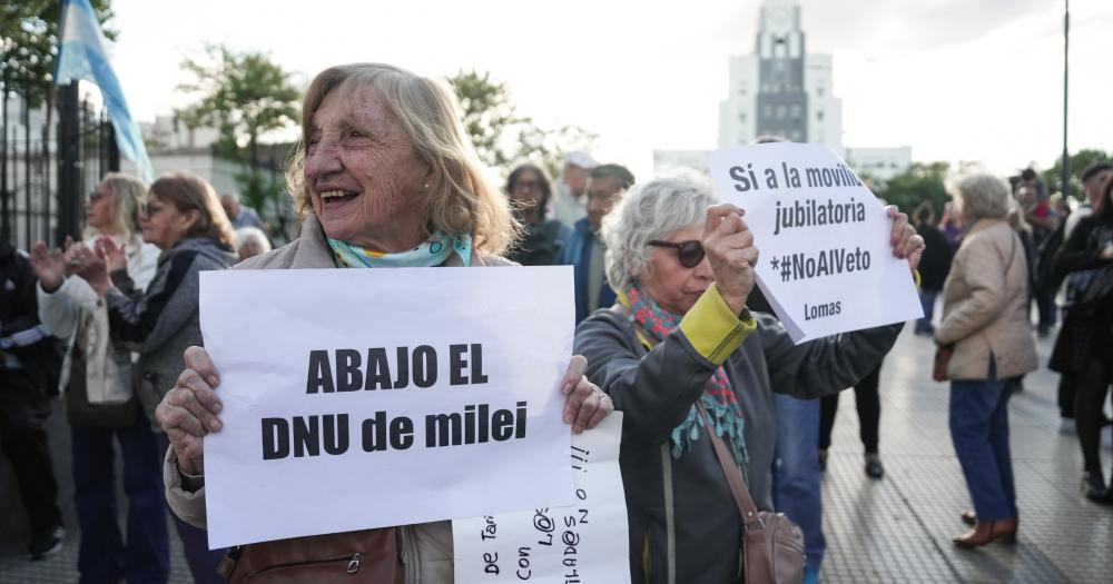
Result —
[[218, 572], [230, 584], [402, 584], [397, 529], [384, 527], [236, 547]]

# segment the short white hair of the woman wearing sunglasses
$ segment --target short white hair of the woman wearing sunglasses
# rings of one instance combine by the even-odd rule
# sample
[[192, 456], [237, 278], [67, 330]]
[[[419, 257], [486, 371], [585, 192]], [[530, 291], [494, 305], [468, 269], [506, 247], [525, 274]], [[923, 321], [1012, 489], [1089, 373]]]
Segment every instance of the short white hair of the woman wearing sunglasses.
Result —
[[719, 202], [707, 179], [695, 174], [661, 177], [636, 185], [603, 217], [607, 279], [617, 291], [630, 287], [649, 265], [649, 241], [703, 224], [707, 208]]

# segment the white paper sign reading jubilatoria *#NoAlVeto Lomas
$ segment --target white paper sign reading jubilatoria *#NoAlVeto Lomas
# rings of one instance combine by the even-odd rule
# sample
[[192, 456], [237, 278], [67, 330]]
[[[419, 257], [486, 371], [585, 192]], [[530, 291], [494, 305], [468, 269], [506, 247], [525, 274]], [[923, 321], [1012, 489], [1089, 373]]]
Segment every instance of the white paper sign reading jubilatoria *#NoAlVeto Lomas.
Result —
[[828, 148], [762, 143], [708, 155], [716, 190], [746, 209], [757, 283], [796, 343], [923, 316], [893, 221]]

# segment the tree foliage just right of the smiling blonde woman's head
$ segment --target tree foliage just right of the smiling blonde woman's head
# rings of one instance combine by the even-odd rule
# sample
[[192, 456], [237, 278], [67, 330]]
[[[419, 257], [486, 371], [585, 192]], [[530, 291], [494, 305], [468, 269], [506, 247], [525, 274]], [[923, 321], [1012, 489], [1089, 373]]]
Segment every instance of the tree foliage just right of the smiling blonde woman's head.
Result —
[[532, 118], [518, 113], [505, 83], [490, 72], [460, 71], [449, 79], [463, 108], [463, 123], [483, 162], [500, 170], [529, 160], [553, 177], [565, 152], [590, 149], [595, 135], [579, 126], [555, 129], [539, 127]]

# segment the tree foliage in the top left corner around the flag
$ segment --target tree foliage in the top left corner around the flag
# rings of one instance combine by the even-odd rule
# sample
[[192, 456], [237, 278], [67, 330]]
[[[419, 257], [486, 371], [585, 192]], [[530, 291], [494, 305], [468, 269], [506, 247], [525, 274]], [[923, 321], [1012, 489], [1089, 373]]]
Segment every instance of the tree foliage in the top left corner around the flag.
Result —
[[[101, 24], [112, 18], [111, 0], [90, 4]], [[60, 14], [57, 0], [0, 2], [0, 78], [9, 92], [23, 96], [31, 107], [53, 101]], [[116, 38], [115, 31], [102, 30], [109, 40]]]

